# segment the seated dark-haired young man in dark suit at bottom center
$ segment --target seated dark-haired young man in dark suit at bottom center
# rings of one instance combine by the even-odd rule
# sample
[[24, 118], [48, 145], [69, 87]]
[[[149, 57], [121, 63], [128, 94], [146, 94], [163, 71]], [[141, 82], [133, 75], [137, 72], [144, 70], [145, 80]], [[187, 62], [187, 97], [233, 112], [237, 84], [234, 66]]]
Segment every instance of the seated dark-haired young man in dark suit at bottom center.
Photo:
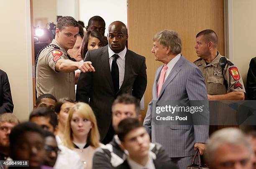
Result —
[[159, 161], [149, 151], [150, 137], [138, 119], [120, 121], [116, 129], [122, 147], [128, 151], [128, 158], [116, 169], [177, 169], [170, 161]]

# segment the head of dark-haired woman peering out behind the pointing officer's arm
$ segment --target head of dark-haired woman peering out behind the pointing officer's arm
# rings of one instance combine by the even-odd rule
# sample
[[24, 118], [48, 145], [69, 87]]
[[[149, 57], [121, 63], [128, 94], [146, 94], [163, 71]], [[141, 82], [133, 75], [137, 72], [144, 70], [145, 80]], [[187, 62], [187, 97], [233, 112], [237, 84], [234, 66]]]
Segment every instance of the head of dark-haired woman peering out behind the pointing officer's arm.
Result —
[[97, 30], [89, 30], [82, 41], [81, 57], [84, 60], [88, 50], [98, 49], [105, 46], [103, 36]]

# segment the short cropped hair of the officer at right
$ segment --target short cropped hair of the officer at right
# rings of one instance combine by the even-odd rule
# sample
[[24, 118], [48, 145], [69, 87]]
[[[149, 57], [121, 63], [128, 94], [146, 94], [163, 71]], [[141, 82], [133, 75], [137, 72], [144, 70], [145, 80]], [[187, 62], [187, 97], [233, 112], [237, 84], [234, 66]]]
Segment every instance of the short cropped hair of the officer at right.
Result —
[[201, 35], [203, 35], [203, 40], [205, 41], [205, 43], [212, 42], [213, 47], [217, 48], [218, 36], [213, 30], [211, 29], [202, 30], [200, 33], [197, 33], [196, 38], [198, 38]]

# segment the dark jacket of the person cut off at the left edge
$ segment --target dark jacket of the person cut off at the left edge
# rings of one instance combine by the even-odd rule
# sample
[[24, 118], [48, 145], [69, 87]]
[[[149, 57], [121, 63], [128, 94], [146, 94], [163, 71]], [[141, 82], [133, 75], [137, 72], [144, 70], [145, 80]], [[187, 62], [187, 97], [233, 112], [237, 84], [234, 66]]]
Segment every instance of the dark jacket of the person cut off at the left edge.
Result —
[[0, 114], [13, 112], [13, 100], [7, 74], [0, 70]]

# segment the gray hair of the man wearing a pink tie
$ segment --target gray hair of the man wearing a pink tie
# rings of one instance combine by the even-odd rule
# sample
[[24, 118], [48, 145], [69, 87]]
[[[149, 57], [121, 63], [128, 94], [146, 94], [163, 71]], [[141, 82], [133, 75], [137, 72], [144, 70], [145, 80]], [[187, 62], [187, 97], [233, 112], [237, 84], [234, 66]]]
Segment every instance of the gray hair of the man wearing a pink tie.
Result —
[[163, 30], [156, 33], [153, 41], [158, 41], [162, 46], [169, 47], [172, 54], [179, 54], [182, 51], [182, 42], [179, 34], [173, 30]]

